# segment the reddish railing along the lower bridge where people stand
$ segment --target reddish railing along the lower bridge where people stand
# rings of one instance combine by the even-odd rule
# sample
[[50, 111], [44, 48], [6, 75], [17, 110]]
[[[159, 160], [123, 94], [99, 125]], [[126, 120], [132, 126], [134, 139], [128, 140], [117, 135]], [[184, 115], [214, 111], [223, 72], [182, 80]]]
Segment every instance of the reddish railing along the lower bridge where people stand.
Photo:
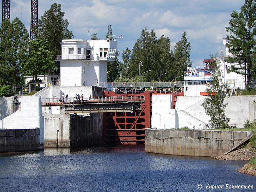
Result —
[[128, 101], [144, 101], [144, 95], [136, 96], [108, 96], [108, 97], [80, 97], [78, 98], [43, 98], [42, 105], [65, 105], [65, 104], [87, 104], [87, 103], [116, 103]]

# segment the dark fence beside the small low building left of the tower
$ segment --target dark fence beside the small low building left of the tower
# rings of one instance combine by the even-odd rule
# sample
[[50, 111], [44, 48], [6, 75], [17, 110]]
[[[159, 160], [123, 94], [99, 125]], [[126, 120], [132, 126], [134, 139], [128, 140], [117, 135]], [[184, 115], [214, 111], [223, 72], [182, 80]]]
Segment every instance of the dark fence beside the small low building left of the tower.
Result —
[[47, 86], [47, 84], [25, 84], [25, 85], [12, 85], [12, 93], [13, 94], [27, 94], [32, 91], [40, 91], [44, 89]]

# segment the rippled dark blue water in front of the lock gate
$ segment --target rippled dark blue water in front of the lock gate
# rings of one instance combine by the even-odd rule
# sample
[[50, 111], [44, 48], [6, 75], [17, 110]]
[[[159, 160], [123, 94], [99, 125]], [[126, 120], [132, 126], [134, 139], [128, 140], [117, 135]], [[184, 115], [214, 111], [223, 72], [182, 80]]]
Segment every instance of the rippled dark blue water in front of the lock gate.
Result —
[[0, 154], [0, 191], [256, 191], [256, 177], [236, 172], [245, 163], [151, 154], [144, 146], [45, 148]]

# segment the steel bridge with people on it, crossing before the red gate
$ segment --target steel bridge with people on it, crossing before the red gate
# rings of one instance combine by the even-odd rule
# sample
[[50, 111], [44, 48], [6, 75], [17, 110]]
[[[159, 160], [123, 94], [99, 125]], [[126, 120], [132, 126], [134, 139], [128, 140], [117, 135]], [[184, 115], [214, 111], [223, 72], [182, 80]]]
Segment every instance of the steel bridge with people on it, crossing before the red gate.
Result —
[[144, 95], [41, 99], [42, 107], [61, 106], [65, 113], [140, 112]]

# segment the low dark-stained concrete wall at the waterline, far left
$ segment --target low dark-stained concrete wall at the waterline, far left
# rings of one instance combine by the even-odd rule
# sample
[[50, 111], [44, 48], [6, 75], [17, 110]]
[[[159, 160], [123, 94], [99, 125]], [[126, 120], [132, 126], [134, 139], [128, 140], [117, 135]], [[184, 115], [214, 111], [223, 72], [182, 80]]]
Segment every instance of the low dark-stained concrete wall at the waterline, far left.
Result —
[[38, 129], [1, 129], [0, 152], [40, 150]]

